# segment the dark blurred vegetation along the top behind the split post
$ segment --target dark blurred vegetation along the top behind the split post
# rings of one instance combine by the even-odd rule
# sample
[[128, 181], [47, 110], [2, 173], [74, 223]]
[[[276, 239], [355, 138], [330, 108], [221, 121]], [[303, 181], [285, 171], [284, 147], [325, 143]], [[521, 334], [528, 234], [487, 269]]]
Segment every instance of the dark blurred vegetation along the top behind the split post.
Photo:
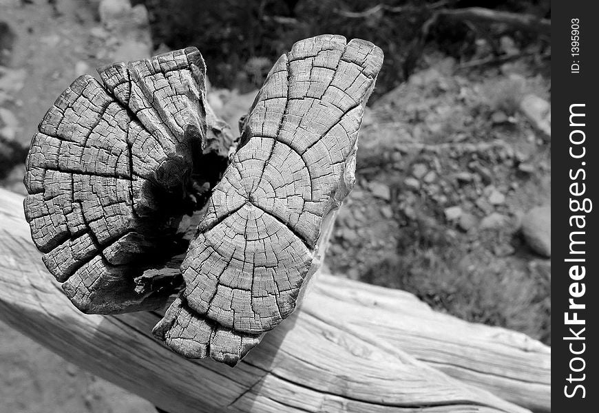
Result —
[[[333, 33], [366, 39], [385, 52], [376, 94], [399, 85], [421, 64], [425, 45], [459, 59], [476, 51], [481, 28], [431, 19], [437, 10], [483, 6], [550, 17], [549, 0], [137, 0], [149, 10], [155, 47], [194, 45], [209, 62], [211, 82], [242, 92], [262, 85], [278, 56], [300, 39]], [[501, 35], [502, 30], [492, 34]], [[523, 46], [538, 35], [516, 33]], [[548, 39], [547, 39], [548, 40]], [[376, 96], [375, 96], [376, 97]]]

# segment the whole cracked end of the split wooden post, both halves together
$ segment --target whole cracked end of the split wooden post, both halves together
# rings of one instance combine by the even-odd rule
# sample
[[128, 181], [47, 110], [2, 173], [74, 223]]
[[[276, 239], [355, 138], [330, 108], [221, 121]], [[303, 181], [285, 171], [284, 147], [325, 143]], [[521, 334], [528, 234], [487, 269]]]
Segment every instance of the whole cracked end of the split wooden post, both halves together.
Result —
[[317, 270], [322, 226], [355, 181], [382, 60], [358, 39], [295, 43], [224, 174], [233, 139], [207, 104], [195, 48], [102, 67], [104, 85], [78, 78], [27, 161], [25, 216], [43, 262], [86, 313], [159, 308], [191, 238], [181, 293], [154, 334], [186, 357], [234, 366], [293, 312]]

